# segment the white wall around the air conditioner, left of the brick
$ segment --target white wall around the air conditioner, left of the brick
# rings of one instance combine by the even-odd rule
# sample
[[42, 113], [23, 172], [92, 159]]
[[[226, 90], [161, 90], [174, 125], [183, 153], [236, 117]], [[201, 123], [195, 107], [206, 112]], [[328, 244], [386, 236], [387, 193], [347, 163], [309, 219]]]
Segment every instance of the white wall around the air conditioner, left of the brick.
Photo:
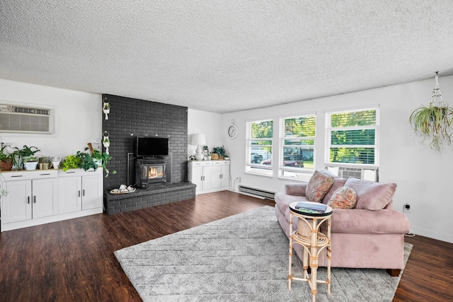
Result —
[[102, 138], [99, 94], [0, 79], [1, 101], [55, 108], [53, 135], [0, 133], [0, 141], [18, 148], [25, 144], [38, 147], [40, 156], [67, 156], [84, 151], [88, 142]]

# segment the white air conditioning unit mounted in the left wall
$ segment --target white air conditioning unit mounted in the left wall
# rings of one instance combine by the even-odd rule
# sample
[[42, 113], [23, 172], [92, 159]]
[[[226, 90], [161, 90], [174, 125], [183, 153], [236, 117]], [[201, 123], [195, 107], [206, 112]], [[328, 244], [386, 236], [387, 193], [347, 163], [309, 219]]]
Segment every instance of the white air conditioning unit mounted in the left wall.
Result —
[[52, 134], [53, 110], [0, 104], [0, 132]]

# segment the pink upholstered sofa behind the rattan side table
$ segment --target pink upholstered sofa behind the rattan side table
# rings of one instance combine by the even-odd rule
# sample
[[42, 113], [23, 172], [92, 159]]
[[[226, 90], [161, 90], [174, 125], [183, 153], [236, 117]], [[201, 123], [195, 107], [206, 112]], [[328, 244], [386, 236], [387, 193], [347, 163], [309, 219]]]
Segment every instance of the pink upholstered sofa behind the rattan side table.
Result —
[[[334, 177], [330, 190], [323, 196], [327, 204], [333, 192], [350, 187], [357, 195], [353, 209], [333, 209], [331, 226], [332, 267], [387, 269], [397, 276], [403, 269], [404, 234], [411, 228], [406, 215], [392, 209], [396, 184], [371, 182], [355, 178], [338, 178], [326, 170], [319, 173]], [[275, 194], [275, 216], [289, 237], [289, 204], [308, 201], [306, 183], [285, 185], [284, 193]], [[293, 221], [297, 228], [297, 218]], [[303, 259], [303, 248], [294, 245]], [[326, 255], [321, 253], [319, 266], [326, 266]]]

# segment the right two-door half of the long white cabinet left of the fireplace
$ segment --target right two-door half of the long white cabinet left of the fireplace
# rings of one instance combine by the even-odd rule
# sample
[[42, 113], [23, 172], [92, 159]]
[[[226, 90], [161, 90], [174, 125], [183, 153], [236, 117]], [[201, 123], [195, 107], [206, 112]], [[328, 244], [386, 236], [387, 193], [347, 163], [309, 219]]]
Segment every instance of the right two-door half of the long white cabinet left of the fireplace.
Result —
[[102, 209], [102, 169], [84, 171], [59, 170], [59, 213], [86, 209]]

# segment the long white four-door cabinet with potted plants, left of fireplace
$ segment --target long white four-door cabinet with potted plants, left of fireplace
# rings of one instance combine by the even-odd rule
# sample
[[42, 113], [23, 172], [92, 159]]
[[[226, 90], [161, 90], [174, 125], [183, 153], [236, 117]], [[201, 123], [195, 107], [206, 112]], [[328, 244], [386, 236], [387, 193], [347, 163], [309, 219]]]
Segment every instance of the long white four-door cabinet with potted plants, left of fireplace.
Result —
[[1, 172], [1, 231], [103, 212], [103, 170]]

